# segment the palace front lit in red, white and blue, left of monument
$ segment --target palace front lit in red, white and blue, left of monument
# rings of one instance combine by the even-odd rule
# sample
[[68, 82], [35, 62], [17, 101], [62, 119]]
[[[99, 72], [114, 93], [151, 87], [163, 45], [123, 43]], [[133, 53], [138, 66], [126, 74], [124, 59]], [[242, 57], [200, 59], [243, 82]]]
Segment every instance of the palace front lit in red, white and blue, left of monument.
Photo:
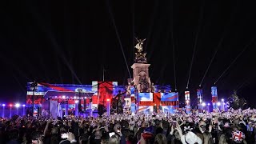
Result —
[[[106, 99], [113, 98], [118, 90], [118, 82], [93, 81], [92, 85], [48, 84], [39, 82], [38, 89], [31, 91], [31, 83], [27, 84], [26, 105], [32, 107], [34, 94], [34, 114], [48, 112], [58, 116], [66, 114], [93, 114], [98, 106], [106, 106]], [[32, 108], [31, 108], [32, 109]]]

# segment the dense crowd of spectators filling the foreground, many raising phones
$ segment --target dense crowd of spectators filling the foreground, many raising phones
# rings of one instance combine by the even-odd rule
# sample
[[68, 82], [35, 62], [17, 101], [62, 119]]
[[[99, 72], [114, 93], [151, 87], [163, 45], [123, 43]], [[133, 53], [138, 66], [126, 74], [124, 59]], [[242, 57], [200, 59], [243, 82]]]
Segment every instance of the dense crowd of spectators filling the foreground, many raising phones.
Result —
[[0, 118], [0, 143], [254, 144], [256, 110]]

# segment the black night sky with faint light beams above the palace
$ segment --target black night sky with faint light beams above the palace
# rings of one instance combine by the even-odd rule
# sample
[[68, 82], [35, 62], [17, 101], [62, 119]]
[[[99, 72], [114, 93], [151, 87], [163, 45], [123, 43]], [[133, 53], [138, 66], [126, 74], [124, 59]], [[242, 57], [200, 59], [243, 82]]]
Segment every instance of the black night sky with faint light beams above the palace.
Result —
[[183, 97], [194, 52], [189, 89], [195, 98], [218, 50], [202, 82], [204, 96], [210, 98], [210, 86], [219, 78], [220, 98], [238, 89], [250, 104], [255, 100], [256, 11], [250, 2], [21, 1], [0, 6], [0, 102], [22, 102], [26, 82], [34, 79], [75, 84], [102, 80], [103, 67], [106, 80], [126, 84], [122, 49], [130, 68], [134, 36], [147, 38], [151, 82], [174, 88], [175, 59], [176, 85]]

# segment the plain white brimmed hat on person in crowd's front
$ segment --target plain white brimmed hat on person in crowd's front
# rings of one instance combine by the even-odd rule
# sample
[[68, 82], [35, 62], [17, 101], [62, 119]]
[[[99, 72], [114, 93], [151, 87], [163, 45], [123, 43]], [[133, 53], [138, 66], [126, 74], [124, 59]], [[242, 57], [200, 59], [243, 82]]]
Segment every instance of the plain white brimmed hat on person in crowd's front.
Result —
[[196, 134], [194, 134], [191, 131], [189, 131], [185, 135], [182, 135], [181, 141], [182, 141], [182, 144], [194, 144], [194, 143], [202, 144], [201, 138], [199, 138]]

